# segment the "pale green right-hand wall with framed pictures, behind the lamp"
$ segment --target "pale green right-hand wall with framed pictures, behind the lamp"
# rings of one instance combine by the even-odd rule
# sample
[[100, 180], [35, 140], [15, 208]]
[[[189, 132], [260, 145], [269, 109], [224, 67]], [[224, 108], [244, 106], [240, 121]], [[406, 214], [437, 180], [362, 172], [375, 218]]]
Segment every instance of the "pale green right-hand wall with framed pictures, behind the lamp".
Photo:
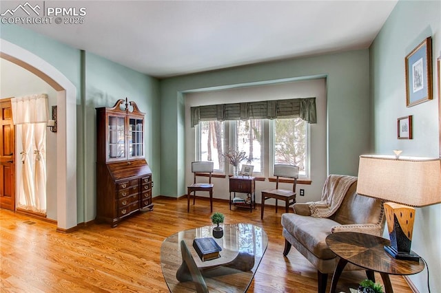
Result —
[[[406, 107], [404, 58], [432, 37], [433, 100]], [[435, 61], [441, 56], [441, 1], [399, 1], [373, 41], [371, 61], [372, 149], [375, 153], [435, 157], [438, 143], [438, 85]], [[413, 116], [413, 140], [398, 140], [397, 118]], [[441, 292], [441, 204], [416, 209], [412, 250], [426, 259], [431, 292]], [[384, 237], [389, 237], [387, 233]], [[428, 292], [427, 270], [409, 277], [419, 292]]]

